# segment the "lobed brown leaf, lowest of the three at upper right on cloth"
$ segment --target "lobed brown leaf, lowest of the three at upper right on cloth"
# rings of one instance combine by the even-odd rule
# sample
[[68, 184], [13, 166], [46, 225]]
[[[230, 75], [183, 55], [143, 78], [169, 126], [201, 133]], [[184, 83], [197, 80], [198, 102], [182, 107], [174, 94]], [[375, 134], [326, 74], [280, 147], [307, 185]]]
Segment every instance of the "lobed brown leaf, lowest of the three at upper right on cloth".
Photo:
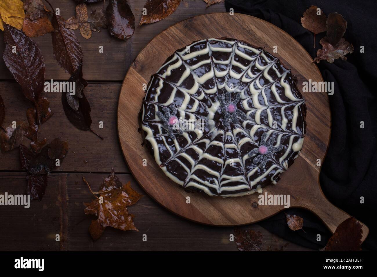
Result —
[[317, 57], [314, 58], [314, 61], [317, 63], [319, 63], [320, 60], [326, 60], [329, 63], [333, 63], [334, 60], [339, 58], [342, 60], [347, 60], [345, 55], [354, 51], [352, 44], [350, 44], [344, 38], [341, 38], [335, 47], [329, 43], [327, 37], [322, 38], [319, 43], [322, 45], [322, 49], [317, 51]]

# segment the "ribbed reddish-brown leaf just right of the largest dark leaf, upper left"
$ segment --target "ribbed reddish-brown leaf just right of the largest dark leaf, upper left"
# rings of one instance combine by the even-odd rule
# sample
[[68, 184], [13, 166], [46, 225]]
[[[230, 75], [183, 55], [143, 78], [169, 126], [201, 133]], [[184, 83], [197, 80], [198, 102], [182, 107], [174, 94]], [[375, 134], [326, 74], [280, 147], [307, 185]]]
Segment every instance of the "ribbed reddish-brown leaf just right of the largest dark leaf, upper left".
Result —
[[58, 64], [72, 75], [83, 64], [83, 51], [75, 32], [65, 28], [66, 23], [60, 15], [52, 17], [52, 26], [57, 30], [52, 32], [52, 47], [54, 58]]

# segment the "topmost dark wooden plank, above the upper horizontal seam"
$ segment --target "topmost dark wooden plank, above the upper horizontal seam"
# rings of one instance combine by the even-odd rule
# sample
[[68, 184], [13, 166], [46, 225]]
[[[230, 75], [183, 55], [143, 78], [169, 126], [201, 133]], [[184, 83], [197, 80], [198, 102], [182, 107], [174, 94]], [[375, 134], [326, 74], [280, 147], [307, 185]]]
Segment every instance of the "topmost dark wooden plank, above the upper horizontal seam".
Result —
[[[135, 34], [129, 40], [122, 41], [113, 38], [105, 29], [102, 29], [100, 33], [93, 33], [92, 37], [87, 40], [81, 36], [79, 30], [75, 31], [84, 52], [83, 74], [86, 80], [123, 81], [131, 61], [148, 41], [162, 30], [195, 15], [225, 10], [224, 3], [205, 8], [206, 3], [202, 0], [185, 0], [182, 1], [176, 12], [164, 20], [138, 28], [137, 25], [140, 22], [141, 10], [146, 0], [131, 0], [129, 2], [136, 22]], [[108, 1], [106, 1], [106, 6], [107, 3]], [[76, 4], [72, 0], [55, 0], [52, 3], [55, 9], [60, 8], [60, 15], [66, 20], [76, 14]], [[88, 12], [90, 13], [98, 7], [103, 7], [103, 2], [89, 4]], [[33, 40], [40, 47], [46, 63], [46, 80], [67, 80], [69, 74], [60, 68], [54, 60], [51, 35], [46, 34], [42, 37], [33, 38]], [[0, 41], [0, 53], [3, 53], [5, 47], [3, 32], [0, 32]], [[103, 53], [99, 53], [99, 46], [103, 46]], [[1, 80], [13, 79], [2, 58], [0, 59], [0, 78]]]

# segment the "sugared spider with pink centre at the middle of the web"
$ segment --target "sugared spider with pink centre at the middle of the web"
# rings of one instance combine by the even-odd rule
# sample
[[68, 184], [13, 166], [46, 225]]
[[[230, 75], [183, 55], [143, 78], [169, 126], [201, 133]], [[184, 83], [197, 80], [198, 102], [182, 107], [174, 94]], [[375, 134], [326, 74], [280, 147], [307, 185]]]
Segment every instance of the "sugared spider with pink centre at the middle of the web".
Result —
[[236, 93], [236, 98], [233, 101], [231, 101], [230, 92], [226, 92], [218, 96], [218, 100], [221, 105], [221, 112], [223, 115], [222, 122], [224, 124], [224, 127], [226, 128], [230, 128], [230, 120], [234, 123], [239, 122], [238, 117], [242, 120], [246, 120], [245, 113], [237, 108], [237, 103], [240, 97], [240, 93]]

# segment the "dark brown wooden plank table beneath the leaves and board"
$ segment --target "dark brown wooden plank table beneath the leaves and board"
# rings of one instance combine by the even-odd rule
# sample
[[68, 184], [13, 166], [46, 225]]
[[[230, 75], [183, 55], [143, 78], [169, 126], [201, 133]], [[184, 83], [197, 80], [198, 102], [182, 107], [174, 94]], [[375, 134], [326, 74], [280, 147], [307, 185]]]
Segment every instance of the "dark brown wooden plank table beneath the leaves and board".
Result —
[[[145, 0], [130, 0], [130, 6], [139, 22]], [[65, 18], [75, 15], [75, 2], [55, 0], [54, 8], [60, 8]], [[103, 3], [88, 5], [92, 11]], [[136, 28], [127, 41], [115, 39], [107, 30], [93, 33], [89, 40], [76, 34], [84, 52], [84, 78], [88, 81], [85, 93], [92, 112], [92, 127], [105, 139], [102, 141], [93, 133], [76, 129], [66, 118], [61, 105], [60, 93], [44, 93], [54, 112], [52, 118], [41, 127], [40, 136], [48, 142], [57, 136], [69, 142], [69, 153], [61, 166], [48, 178], [46, 194], [41, 202], [33, 201], [29, 209], [22, 206], [0, 207], [0, 251], [6, 250], [206, 250], [237, 251], [234, 242], [229, 241], [232, 227], [199, 225], [182, 219], [159, 206], [139, 187], [124, 162], [116, 131], [116, 108], [121, 83], [130, 63], [139, 51], [159, 32], [168, 26], [189, 17], [225, 11], [224, 3], [206, 8], [202, 0], [183, 0], [178, 10], [170, 17], [154, 24]], [[3, 52], [3, 34], [0, 32], [0, 53]], [[35, 38], [45, 63], [46, 80], [67, 80], [69, 75], [61, 69], [52, 55], [51, 35]], [[104, 53], [99, 53], [103, 46]], [[26, 121], [26, 110], [31, 103], [23, 96], [3, 59], [0, 59], [0, 95], [5, 102], [4, 126], [12, 121]], [[98, 129], [103, 121], [104, 128]], [[25, 143], [29, 143], [26, 140]], [[21, 170], [18, 149], [0, 154], [0, 194], [24, 194], [26, 173]], [[82, 176], [98, 188], [114, 168], [122, 182], [131, 181], [132, 187], [145, 196], [129, 208], [135, 215], [136, 231], [120, 231], [106, 228], [102, 237], [93, 242], [88, 228], [91, 216], [84, 214], [83, 202], [93, 199]], [[294, 243], [288, 243], [267, 230], [253, 224], [242, 228], [261, 231], [264, 235], [264, 250], [308, 250]], [[60, 234], [60, 242], [55, 235]], [[147, 241], [143, 242], [143, 234]]]

